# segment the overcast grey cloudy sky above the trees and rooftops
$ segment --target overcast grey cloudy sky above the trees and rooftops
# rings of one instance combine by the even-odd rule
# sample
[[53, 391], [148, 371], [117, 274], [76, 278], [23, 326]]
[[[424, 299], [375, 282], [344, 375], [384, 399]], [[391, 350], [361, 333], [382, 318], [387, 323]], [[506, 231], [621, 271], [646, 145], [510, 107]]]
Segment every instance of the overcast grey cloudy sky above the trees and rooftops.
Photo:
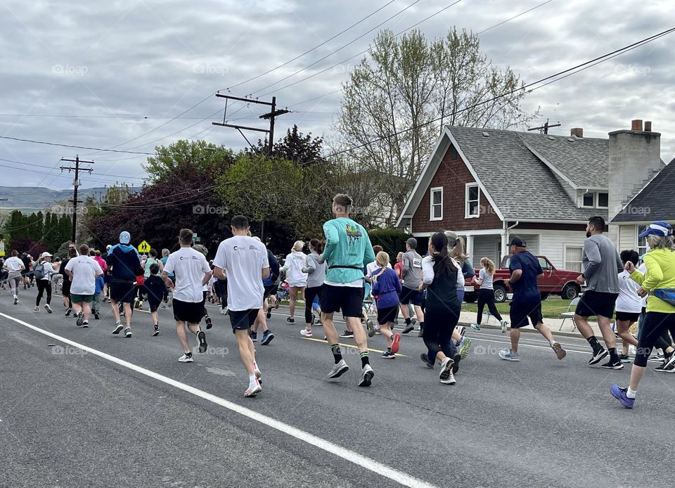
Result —
[[[230, 87], [236, 96], [269, 100], [274, 94], [278, 105], [293, 110], [278, 120], [278, 134], [297, 124], [303, 132], [329, 135], [340, 107], [340, 83], [360, 57], [345, 60], [367, 49], [378, 29], [368, 30], [414, 1], [0, 0], [0, 135], [140, 153], [177, 139], [241, 148], [245, 141], [237, 131], [211, 125], [222, 118], [223, 108], [211, 95]], [[420, 0], [379, 28], [400, 32], [454, 1]], [[544, 3], [461, 0], [420, 29], [428, 38], [453, 25], [480, 32]], [[247, 82], [383, 6], [319, 49]], [[549, 0], [480, 37], [496, 65], [509, 65], [532, 82], [674, 27], [674, 20], [672, 0]], [[553, 134], [584, 127], [585, 136], [606, 137], [608, 131], [629, 129], [633, 118], [652, 120], [668, 162], [675, 157], [673, 45], [675, 34], [658, 39], [534, 91], [525, 107], [540, 108], [536, 122], [547, 117], [560, 122]], [[231, 104], [228, 118], [262, 127], [257, 115], [265, 108]], [[60, 173], [59, 159], [76, 154], [96, 162], [94, 174], [82, 176], [84, 186], [122, 176], [141, 184], [143, 154], [0, 139], [0, 186], [66, 188], [72, 176]]]

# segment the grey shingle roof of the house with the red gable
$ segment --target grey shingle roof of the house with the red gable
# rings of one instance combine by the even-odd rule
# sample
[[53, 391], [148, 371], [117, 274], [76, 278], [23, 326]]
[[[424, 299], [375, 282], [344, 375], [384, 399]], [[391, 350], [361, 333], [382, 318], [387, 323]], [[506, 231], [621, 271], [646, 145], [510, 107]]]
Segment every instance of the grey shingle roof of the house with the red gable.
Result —
[[[558, 150], [549, 150], [548, 153], [557, 153], [556, 164], [564, 165], [561, 153], [565, 146], [560, 145], [560, 141], [550, 141], [544, 134], [470, 127], [448, 129], [506, 219], [587, 221], [593, 215], [607, 217], [606, 210], [578, 208], [555, 178], [553, 171], [527, 148], [523, 136], [529, 136], [528, 141], [542, 138], [551, 142], [551, 146], [558, 147]], [[485, 137], [483, 133], [489, 136]], [[563, 142], [570, 146], [577, 143]], [[585, 141], [579, 139], [578, 142], [581, 148], [593, 146], [593, 153], [597, 150], [595, 143], [586, 146]], [[534, 143], [538, 147], [546, 145], [543, 141]], [[583, 151], [577, 149], [575, 157], [581, 160], [581, 155]], [[595, 155], [592, 158], [589, 155], [588, 160], [595, 160], [594, 158]], [[607, 165], [608, 158], [605, 158], [605, 171]], [[607, 179], [608, 176], [605, 176], [605, 185]], [[596, 183], [593, 186], [600, 185]]]

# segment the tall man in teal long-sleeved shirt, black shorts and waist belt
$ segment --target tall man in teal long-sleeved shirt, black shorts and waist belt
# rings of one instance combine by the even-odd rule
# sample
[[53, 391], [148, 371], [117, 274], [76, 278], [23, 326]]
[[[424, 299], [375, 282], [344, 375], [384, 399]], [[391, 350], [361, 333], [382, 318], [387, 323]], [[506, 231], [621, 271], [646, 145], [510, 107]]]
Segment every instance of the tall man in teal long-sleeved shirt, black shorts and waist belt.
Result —
[[361, 353], [359, 386], [368, 387], [375, 373], [368, 359], [366, 331], [361, 327], [361, 308], [364, 302], [364, 268], [375, 259], [375, 255], [366, 229], [349, 218], [352, 198], [343, 193], [335, 195], [332, 210], [335, 219], [323, 224], [326, 245], [320, 259], [320, 262], [328, 263], [326, 281], [321, 290], [323, 333], [335, 361], [328, 378], [338, 378], [349, 371], [349, 366], [342, 359], [338, 331], [333, 323], [333, 314], [342, 310], [347, 328], [351, 328]]

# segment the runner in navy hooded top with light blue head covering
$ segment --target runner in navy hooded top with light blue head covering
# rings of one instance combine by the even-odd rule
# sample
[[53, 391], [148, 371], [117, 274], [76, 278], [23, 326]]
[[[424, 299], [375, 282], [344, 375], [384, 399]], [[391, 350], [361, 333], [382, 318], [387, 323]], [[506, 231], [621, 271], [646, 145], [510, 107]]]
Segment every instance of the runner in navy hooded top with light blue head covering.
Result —
[[[113, 334], [124, 330], [124, 337], [131, 338], [131, 304], [136, 297], [136, 276], [143, 274], [139, 252], [129, 245], [131, 234], [120, 233], [120, 243], [115, 244], [106, 257], [110, 269], [110, 308], [115, 316]], [[120, 320], [120, 306], [124, 313], [124, 324]]]

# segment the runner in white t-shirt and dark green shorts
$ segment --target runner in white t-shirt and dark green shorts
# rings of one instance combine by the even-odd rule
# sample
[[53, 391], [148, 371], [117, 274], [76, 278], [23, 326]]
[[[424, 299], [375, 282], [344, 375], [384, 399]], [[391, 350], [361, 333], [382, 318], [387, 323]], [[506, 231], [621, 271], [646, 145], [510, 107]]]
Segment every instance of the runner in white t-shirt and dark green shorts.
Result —
[[77, 317], [78, 327], [89, 327], [91, 302], [96, 291], [96, 277], [103, 276], [103, 269], [94, 258], [89, 257], [89, 246], [79, 246], [79, 256], [68, 261], [65, 272], [72, 281], [70, 295], [73, 312]]

